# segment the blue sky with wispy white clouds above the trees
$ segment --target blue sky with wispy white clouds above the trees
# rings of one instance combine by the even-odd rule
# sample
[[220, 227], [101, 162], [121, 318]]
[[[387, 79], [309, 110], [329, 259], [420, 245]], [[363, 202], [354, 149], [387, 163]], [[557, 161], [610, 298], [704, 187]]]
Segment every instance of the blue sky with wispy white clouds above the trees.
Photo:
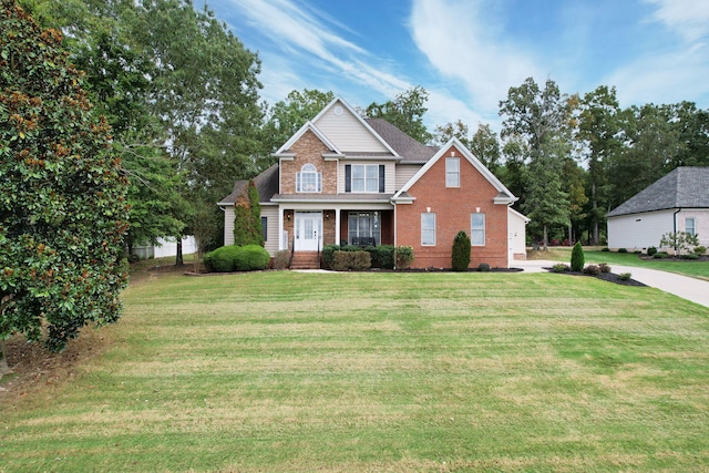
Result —
[[421, 85], [430, 130], [499, 130], [499, 102], [532, 76], [615, 85], [624, 107], [709, 107], [709, 0], [206, 1], [259, 54], [270, 104], [318, 89], [366, 107]]

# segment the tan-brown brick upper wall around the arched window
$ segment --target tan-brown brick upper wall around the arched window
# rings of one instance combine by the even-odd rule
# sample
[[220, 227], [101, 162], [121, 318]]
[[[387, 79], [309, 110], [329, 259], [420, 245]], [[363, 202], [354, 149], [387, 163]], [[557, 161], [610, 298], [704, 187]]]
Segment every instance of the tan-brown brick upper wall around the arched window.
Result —
[[322, 173], [322, 194], [337, 193], [337, 162], [325, 161], [322, 153], [330, 150], [312, 133], [307, 131], [290, 148], [296, 154], [294, 161], [282, 161], [280, 165], [280, 194], [296, 194], [296, 174], [308, 163]]

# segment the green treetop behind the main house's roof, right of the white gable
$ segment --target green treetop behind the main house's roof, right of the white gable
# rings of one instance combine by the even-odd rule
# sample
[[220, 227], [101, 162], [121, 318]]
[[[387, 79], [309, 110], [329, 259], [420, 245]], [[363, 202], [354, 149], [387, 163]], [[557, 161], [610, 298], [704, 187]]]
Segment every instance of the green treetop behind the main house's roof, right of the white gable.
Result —
[[429, 110], [425, 106], [429, 93], [421, 85], [401, 92], [394, 100], [384, 103], [372, 102], [364, 115], [370, 119], [383, 119], [409, 136], [421, 143], [433, 138], [423, 124], [423, 115]]

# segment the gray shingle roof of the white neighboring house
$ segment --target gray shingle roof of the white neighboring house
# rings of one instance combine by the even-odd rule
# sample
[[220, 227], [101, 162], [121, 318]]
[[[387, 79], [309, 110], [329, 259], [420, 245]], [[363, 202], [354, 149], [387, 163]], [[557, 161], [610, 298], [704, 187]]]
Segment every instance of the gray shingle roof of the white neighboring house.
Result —
[[668, 208], [709, 208], [709, 167], [677, 167], [608, 213], [608, 217]]

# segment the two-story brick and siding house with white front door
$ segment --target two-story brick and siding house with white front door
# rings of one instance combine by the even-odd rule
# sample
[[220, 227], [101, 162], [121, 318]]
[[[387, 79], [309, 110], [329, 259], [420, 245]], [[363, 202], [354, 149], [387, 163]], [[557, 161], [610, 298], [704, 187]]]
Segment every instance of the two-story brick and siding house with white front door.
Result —
[[[411, 246], [413, 267], [450, 268], [460, 230], [471, 237], [471, 267], [506, 268], [525, 255], [528, 219], [510, 207], [517, 198], [455, 138], [425, 146], [335, 99], [274, 156], [278, 163], [255, 178], [271, 255], [317, 255], [328, 244]], [[237, 181], [218, 203], [225, 245], [234, 243], [234, 205], [247, 184]]]

